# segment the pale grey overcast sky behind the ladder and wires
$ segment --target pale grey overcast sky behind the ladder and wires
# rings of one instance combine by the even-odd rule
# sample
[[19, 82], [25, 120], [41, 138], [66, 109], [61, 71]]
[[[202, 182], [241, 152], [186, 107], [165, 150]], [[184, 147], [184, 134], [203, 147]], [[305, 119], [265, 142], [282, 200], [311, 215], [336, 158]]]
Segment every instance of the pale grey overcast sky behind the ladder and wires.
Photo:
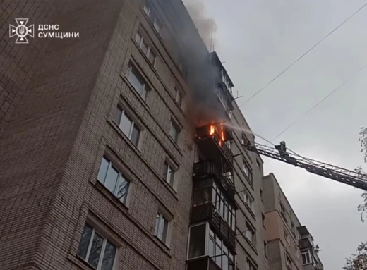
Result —
[[[290, 63], [351, 16], [366, 0], [203, 0], [215, 19], [215, 50], [235, 91], [251, 97]], [[225, 2], [229, 3], [224, 4]], [[251, 129], [272, 140], [367, 64], [367, 7], [242, 107]], [[277, 141], [303, 156], [354, 169], [363, 165], [359, 129], [367, 125], [367, 68]], [[262, 142], [258, 139], [258, 142]], [[325, 270], [367, 240], [356, 206], [361, 191], [301, 168], [264, 159], [301, 223], [320, 245]]]

